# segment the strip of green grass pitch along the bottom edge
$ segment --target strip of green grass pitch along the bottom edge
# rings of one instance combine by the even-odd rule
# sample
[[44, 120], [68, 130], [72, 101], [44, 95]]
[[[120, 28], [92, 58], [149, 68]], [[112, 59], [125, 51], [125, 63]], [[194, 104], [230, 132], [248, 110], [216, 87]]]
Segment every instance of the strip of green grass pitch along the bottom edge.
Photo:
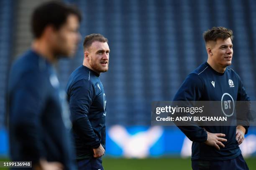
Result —
[[[0, 159], [4, 161], [8, 159]], [[256, 157], [247, 158], [246, 163], [250, 170], [256, 170]], [[190, 159], [181, 158], [147, 158], [147, 159], [125, 159], [125, 158], [103, 158], [105, 170], [191, 170]], [[0, 168], [8, 170], [8, 168]]]

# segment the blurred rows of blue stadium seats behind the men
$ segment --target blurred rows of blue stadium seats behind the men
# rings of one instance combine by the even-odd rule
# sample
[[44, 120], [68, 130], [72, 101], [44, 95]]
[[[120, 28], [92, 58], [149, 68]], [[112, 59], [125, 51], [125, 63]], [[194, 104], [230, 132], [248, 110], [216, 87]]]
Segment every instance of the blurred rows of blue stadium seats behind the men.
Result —
[[[26, 0], [24, 0], [26, 1]], [[151, 102], [172, 100], [184, 78], [207, 60], [202, 33], [213, 26], [233, 30], [232, 68], [251, 100], [256, 100], [256, 1], [254, 0], [65, 0], [76, 4], [81, 35], [101, 33], [109, 40], [109, 71], [100, 76], [107, 96], [107, 126], [150, 126]], [[0, 0], [0, 127], [5, 124], [8, 70], [22, 52], [15, 39], [15, 9]], [[28, 5], [28, 4], [25, 4]], [[28, 5], [29, 7], [29, 5]], [[22, 18], [21, 18], [22, 19]], [[28, 23], [26, 23], [28, 24]], [[26, 32], [21, 34], [26, 35]], [[62, 88], [82, 64], [82, 43], [74, 60], [56, 66]], [[0, 128], [0, 129], [1, 129]], [[172, 128], [166, 128], [171, 129]], [[175, 129], [175, 128], [174, 128]], [[1, 141], [6, 137], [3, 131]], [[179, 135], [182, 135], [180, 132]], [[8, 146], [1, 145], [6, 150]], [[170, 154], [170, 153], [168, 153]]]

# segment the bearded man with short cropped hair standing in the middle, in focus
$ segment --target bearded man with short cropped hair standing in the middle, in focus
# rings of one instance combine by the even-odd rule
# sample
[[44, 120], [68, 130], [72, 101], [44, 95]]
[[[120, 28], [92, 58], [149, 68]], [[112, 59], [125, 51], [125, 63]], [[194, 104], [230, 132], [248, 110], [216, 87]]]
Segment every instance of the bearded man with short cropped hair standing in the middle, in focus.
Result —
[[105, 153], [106, 96], [100, 73], [108, 71], [107, 38], [91, 34], [84, 38], [84, 61], [69, 77], [67, 99], [71, 111], [77, 167], [79, 170], [103, 170]]

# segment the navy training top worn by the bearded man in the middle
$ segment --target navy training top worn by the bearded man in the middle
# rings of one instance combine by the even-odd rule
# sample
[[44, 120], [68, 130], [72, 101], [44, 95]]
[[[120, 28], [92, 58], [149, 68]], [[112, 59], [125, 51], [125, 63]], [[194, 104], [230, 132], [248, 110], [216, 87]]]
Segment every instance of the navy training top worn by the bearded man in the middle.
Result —
[[93, 156], [93, 148], [105, 148], [106, 95], [100, 75], [81, 65], [69, 77], [67, 100], [71, 111], [77, 159]]

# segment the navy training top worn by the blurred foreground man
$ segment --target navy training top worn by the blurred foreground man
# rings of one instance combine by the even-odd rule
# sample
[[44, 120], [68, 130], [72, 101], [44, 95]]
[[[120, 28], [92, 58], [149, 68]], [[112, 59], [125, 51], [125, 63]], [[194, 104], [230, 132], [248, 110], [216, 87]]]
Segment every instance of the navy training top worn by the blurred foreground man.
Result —
[[34, 164], [44, 158], [76, 169], [65, 92], [52, 65], [28, 50], [11, 68], [7, 95], [11, 159]]

